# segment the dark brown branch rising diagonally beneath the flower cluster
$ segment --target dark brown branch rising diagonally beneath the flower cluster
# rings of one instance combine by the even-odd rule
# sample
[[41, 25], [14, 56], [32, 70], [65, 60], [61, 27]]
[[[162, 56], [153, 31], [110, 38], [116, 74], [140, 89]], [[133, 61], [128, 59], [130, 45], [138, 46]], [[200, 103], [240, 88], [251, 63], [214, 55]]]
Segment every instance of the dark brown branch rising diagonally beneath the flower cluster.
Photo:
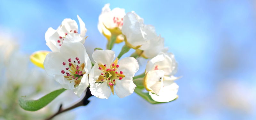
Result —
[[89, 87], [88, 87], [88, 88], [87, 88], [87, 91], [85, 92], [85, 96], [84, 96], [84, 98], [83, 98], [81, 101], [79, 101], [79, 102], [76, 103], [75, 105], [73, 105], [73, 106], [71, 106], [71, 107], [69, 107], [69, 108], [66, 108], [66, 109], [63, 109], [63, 108], [62, 108], [62, 104], [60, 104], [60, 108], [59, 108], [58, 112], [55, 113], [55, 114], [53, 114], [52, 116], [46, 118], [45, 120], [51, 120], [53, 117], [59, 115], [60, 113], [63, 113], [63, 112], [66, 112], [66, 111], [68, 111], [68, 110], [77, 108], [77, 107], [79, 107], [79, 106], [86, 106], [86, 105], [90, 102], [90, 101], [88, 100], [88, 98], [90, 98], [91, 96], [92, 96], [92, 93], [91, 93], [91, 91], [90, 91], [90, 89], [89, 89]]

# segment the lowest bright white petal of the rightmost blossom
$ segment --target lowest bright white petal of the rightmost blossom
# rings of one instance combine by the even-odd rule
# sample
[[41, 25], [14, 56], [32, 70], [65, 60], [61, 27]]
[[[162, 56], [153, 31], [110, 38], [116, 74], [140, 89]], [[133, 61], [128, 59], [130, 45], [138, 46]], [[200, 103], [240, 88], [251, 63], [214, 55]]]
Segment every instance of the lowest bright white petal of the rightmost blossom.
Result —
[[155, 101], [169, 102], [176, 99], [178, 89], [179, 89], [179, 86], [176, 83], [172, 82], [172, 83], [169, 83], [168, 85], [164, 84], [163, 89], [160, 90], [158, 95], [153, 94], [151, 92], [149, 92], [149, 95]]

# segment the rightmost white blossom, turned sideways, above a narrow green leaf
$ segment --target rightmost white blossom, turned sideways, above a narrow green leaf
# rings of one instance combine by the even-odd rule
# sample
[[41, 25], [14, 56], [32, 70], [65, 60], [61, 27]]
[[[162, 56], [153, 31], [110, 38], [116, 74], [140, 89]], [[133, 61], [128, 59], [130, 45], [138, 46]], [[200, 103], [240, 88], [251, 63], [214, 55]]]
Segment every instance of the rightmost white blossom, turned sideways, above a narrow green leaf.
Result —
[[179, 77], [176, 60], [171, 52], [159, 53], [146, 66], [144, 86], [151, 98], [158, 102], [169, 102], [177, 98], [179, 86], [174, 82]]

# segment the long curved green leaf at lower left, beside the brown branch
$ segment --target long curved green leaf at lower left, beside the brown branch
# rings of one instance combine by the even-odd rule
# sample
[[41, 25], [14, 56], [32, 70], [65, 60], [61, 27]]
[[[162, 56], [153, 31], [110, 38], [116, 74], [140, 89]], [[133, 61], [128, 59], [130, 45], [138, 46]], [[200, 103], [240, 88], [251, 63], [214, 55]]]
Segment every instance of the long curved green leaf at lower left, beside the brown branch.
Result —
[[66, 89], [62, 88], [62, 89], [53, 91], [38, 100], [25, 100], [24, 98], [26, 96], [25, 97], [21, 96], [19, 98], [20, 107], [28, 111], [39, 110], [44, 106], [46, 106], [47, 104], [49, 104], [52, 100], [54, 100], [58, 95], [60, 95], [60, 93], [64, 92], [65, 90]]

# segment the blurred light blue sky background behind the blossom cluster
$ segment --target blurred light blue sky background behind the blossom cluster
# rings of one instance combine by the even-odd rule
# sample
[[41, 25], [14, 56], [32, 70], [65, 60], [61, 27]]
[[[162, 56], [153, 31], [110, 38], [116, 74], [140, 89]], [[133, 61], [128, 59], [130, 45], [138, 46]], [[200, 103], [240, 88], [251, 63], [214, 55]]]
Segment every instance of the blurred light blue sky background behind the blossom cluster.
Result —
[[[71, 111], [75, 119], [256, 119], [255, 0], [0, 0], [1, 42], [12, 39], [10, 43], [20, 46], [19, 55], [21, 52], [23, 58], [27, 55], [29, 60], [28, 56], [35, 51], [50, 51], [44, 39], [48, 28], [56, 29], [65, 18], [78, 21], [76, 15], [79, 15], [88, 29], [84, 46], [91, 57], [94, 48], [106, 48], [107, 40], [98, 31], [97, 24], [101, 8], [107, 3], [111, 9], [135, 11], [144, 18], [145, 24], [154, 25], [156, 33], [165, 38], [165, 45], [179, 63], [176, 74], [182, 76], [176, 81], [179, 98], [151, 105], [136, 93], [123, 99], [116, 95], [108, 100], [92, 97], [89, 105]], [[114, 46], [116, 55], [123, 44]], [[141, 69], [137, 74], [140, 74], [147, 60], [138, 61]], [[47, 76], [44, 70], [28, 64], [28, 69], [38, 69], [42, 76]], [[3, 64], [0, 65], [2, 68]], [[51, 77], [45, 78], [54, 81]], [[4, 79], [0, 81], [3, 85]], [[55, 86], [50, 87], [51, 90], [60, 88], [58, 84]], [[45, 89], [41, 94], [49, 91]], [[28, 94], [21, 92], [19, 96], [25, 93]], [[64, 100], [72, 97], [77, 100], [72, 92], [63, 94], [51, 104], [55, 106], [53, 112]], [[66, 106], [70, 104], [72, 102]]]

